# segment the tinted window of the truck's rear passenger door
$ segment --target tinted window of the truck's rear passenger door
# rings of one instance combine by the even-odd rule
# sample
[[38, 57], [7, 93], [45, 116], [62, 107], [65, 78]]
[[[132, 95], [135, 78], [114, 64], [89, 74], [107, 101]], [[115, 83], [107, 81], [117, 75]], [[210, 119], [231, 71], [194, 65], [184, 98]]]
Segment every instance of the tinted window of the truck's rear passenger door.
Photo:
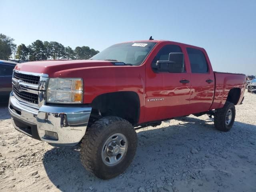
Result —
[[201, 50], [187, 48], [192, 73], [207, 73], [208, 65]]

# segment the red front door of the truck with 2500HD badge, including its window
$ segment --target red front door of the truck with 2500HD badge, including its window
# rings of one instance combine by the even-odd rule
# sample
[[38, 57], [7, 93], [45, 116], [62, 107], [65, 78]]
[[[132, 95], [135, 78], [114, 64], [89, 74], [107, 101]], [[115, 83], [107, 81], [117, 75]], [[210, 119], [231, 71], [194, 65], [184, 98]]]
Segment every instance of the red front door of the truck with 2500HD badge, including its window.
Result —
[[[178, 45], [163, 46], [154, 57], [152, 63], [168, 60], [171, 52], [182, 53]], [[146, 66], [146, 115], [144, 122], [163, 120], [189, 114], [190, 73], [154, 71], [150, 64]]]

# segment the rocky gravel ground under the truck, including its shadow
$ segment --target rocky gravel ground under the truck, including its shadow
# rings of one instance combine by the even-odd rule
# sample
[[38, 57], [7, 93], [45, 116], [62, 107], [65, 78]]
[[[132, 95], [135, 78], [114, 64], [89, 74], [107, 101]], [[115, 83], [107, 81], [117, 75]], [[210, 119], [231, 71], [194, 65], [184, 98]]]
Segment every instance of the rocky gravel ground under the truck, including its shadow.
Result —
[[124, 174], [100, 180], [78, 147], [54, 148], [16, 131], [0, 107], [0, 191], [256, 191], [256, 94], [236, 106], [230, 132], [204, 115], [137, 130], [136, 156]]

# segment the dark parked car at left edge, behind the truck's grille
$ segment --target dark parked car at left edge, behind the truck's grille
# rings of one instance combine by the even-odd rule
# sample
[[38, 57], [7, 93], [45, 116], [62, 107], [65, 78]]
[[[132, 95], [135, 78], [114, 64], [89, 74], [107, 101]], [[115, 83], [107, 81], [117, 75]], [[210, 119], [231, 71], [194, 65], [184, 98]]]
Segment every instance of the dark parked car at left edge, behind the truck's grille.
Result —
[[16, 62], [0, 60], [0, 102], [7, 102], [12, 91], [12, 72]]

